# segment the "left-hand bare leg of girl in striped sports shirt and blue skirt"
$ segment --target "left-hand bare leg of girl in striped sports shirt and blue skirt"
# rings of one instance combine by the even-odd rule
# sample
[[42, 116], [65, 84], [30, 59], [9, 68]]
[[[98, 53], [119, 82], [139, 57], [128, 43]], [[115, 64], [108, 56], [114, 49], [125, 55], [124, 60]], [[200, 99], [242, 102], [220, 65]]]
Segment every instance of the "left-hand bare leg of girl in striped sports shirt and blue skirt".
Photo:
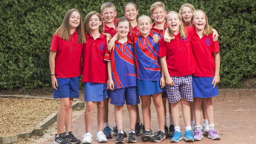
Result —
[[151, 96], [141, 96], [141, 107], [142, 107], [142, 116], [145, 130], [150, 129], [150, 105], [151, 105]]

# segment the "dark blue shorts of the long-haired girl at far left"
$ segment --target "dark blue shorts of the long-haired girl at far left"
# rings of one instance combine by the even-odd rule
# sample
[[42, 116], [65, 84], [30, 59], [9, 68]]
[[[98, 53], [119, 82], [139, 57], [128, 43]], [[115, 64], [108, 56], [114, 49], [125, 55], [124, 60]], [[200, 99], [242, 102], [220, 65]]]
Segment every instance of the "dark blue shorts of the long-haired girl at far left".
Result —
[[53, 98], [78, 98], [79, 81], [78, 76], [74, 78], [56, 78], [58, 87], [53, 89]]

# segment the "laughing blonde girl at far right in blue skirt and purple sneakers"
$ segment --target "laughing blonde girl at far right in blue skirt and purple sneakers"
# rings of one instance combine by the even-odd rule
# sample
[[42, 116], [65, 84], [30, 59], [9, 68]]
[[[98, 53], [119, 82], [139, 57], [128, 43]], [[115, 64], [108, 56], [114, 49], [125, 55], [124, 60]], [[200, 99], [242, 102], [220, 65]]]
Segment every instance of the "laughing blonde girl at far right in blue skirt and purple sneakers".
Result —
[[195, 140], [203, 138], [201, 130], [201, 104], [206, 105], [209, 120], [208, 138], [219, 140], [214, 128], [214, 111], [212, 97], [219, 94], [216, 84], [219, 83], [220, 55], [219, 42], [213, 41], [211, 26], [204, 11], [197, 10], [192, 15], [192, 23], [196, 33], [191, 39], [192, 51], [195, 59], [195, 73], [192, 76], [194, 113], [196, 122]]

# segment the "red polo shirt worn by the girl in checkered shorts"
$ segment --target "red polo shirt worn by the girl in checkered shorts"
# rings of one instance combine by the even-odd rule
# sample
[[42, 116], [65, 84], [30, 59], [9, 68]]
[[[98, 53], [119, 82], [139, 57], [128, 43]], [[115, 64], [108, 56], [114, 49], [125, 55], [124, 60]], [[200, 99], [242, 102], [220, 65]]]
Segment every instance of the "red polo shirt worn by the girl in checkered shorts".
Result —
[[195, 72], [191, 36], [195, 33], [193, 26], [187, 26], [188, 36], [180, 39], [180, 33], [174, 35], [175, 39], [165, 42], [163, 37], [159, 42], [158, 56], [166, 56], [167, 68], [170, 76], [187, 76]]

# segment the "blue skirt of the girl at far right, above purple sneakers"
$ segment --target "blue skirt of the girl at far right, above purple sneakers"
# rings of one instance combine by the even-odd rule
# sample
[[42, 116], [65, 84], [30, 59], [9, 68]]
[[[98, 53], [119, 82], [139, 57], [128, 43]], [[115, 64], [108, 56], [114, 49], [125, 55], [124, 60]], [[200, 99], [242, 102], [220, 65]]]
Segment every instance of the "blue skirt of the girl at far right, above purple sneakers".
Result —
[[213, 89], [213, 77], [192, 77], [194, 98], [210, 98], [219, 94], [217, 85]]

